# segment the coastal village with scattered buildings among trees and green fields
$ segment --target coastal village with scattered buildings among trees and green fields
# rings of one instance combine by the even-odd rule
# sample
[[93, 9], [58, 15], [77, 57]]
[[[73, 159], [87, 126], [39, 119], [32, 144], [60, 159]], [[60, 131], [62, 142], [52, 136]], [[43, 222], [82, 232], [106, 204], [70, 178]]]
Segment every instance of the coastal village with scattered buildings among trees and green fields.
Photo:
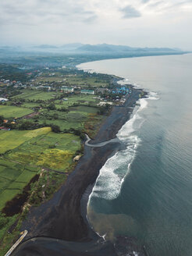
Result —
[[[49, 119], [52, 126], [59, 126], [58, 130], [73, 129], [74, 118], [70, 114], [74, 116], [74, 110], [78, 112], [77, 107], [92, 107], [92, 112], [103, 115], [112, 105], [123, 105], [131, 94], [131, 88], [118, 84], [116, 76], [85, 73], [66, 67], [44, 67], [30, 72], [23, 69], [23, 73], [23, 81], [0, 77], [0, 116], [4, 117], [0, 130], [29, 129], [30, 125], [33, 129], [40, 128], [50, 124]], [[84, 116], [81, 117], [79, 125], [75, 125], [77, 129], [81, 129], [84, 123]], [[64, 127], [66, 120], [70, 122]], [[74, 121], [76, 123], [76, 119]], [[69, 123], [72, 124], [69, 126]]]

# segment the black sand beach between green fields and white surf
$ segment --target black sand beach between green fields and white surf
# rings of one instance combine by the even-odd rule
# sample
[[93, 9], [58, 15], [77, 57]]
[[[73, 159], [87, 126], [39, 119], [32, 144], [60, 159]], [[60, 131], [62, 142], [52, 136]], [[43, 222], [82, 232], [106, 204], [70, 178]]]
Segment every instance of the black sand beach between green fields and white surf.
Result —
[[[141, 92], [140, 89], [133, 88], [123, 106], [113, 107], [91, 143], [116, 137], [119, 129], [130, 119]], [[123, 255], [117, 253], [117, 248], [112, 243], [104, 243], [86, 219], [88, 196], [99, 170], [120, 148], [119, 142], [109, 143], [101, 148], [85, 146], [84, 157], [60, 190], [50, 201], [30, 210], [22, 227], [29, 233], [12, 255]], [[123, 247], [123, 243], [127, 247], [129, 241], [119, 239], [117, 244]]]

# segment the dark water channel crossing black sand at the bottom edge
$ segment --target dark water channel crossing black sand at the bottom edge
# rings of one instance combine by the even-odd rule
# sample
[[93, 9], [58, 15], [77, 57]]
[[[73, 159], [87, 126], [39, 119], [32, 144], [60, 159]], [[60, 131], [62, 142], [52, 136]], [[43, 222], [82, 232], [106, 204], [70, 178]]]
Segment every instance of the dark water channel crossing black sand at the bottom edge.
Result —
[[[20, 254], [19, 254], [20, 250]], [[132, 251], [127, 253], [128, 251]], [[140, 252], [137, 252], [140, 251]], [[133, 238], [119, 236], [116, 244], [98, 239], [74, 243], [48, 237], [34, 237], [13, 251], [12, 256], [145, 256], [144, 249]]]

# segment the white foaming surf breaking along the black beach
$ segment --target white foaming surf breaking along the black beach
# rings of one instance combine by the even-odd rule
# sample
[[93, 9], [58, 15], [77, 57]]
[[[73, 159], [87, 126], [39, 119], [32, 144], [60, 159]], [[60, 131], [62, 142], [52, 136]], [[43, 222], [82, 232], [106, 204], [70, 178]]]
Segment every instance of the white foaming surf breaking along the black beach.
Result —
[[[120, 81], [123, 83], [123, 81]], [[126, 80], [127, 84], [127, 80]], [[119, 196], [125, 176], [130, 173], [131, 163], [137, 154], [137, 147], [140, 144], [140, 137], [137, 131], [144, 123], [145, 119], [140, 116], [140, 112], [148, 107], [148, 100], [158, 99], [154, 92], [148, 94], [148, 98], [141, 98], [137, 101], [137, 106], [128, 120], [117, 133], [119, 140], [126, 145], [126, 149], [118, 151], [112, 158], [108, 158], [105, 165], [100, 170], [94, 189], [89, 197], [101, 197], [108, 200]]]

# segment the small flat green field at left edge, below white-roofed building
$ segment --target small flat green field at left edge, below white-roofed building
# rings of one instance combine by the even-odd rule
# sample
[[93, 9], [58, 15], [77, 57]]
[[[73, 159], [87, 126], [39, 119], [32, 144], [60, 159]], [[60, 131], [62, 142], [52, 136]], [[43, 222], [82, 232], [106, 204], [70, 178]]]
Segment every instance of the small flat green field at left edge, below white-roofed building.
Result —
[[22, 116], [27, 116], [32, 113], [33, 110], [29, 108], [20, 108], [15, 106], [9, 105], [0, 105], [0, 115], [4, 116], [5, 118], [19, 118]]

